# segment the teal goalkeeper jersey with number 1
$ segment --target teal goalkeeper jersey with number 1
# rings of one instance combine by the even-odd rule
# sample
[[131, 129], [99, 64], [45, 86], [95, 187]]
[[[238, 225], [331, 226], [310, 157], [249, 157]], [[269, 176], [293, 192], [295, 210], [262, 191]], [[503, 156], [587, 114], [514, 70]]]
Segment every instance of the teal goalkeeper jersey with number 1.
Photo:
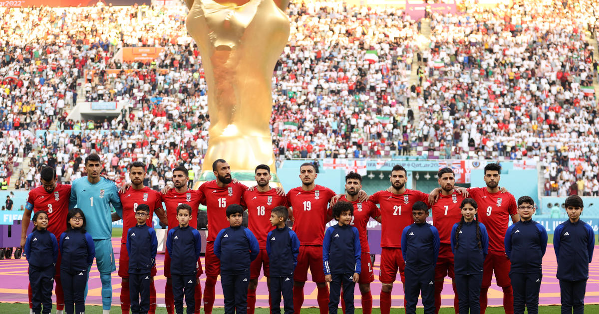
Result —
[[87, 232], [94, 240], [111, 239], [111, 204], [119, 217], [123, 217], [119, 190], [113, 181], [100, 178], [98, 183], [91, 184], [87, 181], [87, 176], [73, 181], [69, 209], [76, 207], [83, 211]]

